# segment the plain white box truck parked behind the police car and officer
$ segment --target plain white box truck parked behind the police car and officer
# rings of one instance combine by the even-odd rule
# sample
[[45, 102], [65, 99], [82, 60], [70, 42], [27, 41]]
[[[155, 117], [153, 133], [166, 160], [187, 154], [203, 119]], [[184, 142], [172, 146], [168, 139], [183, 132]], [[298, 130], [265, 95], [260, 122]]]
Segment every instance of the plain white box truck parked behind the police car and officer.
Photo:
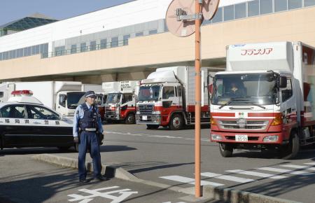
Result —
[[15, 90], [31, 90], [34, 97], [62, 116], [73, 116], [78, 101], [85, 94], [81, 91], [81, 82], [45, 81], [14, 84]]

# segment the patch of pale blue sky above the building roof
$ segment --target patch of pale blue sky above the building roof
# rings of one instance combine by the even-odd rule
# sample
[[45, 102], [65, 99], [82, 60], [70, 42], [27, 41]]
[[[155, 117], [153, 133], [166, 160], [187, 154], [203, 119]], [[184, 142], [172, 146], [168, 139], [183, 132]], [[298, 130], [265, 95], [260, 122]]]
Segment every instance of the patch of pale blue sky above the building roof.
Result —
[[0, 0], [0, 25], [41, 13], [57, 20], [133, 0]]

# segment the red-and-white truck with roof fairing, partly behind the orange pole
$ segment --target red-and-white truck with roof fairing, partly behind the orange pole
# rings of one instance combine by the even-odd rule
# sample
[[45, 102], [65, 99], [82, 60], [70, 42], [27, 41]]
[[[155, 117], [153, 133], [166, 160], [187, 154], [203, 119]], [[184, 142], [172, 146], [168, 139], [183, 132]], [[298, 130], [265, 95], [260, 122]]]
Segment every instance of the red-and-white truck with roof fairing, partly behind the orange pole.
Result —
[[[209, 124], [208, 68], [201, 69], [201, 122]], [[148, 129], [159, 126], [181, 130], [195, 123], [195, 67], [156, 69], [141, 80], [136, 120]]]

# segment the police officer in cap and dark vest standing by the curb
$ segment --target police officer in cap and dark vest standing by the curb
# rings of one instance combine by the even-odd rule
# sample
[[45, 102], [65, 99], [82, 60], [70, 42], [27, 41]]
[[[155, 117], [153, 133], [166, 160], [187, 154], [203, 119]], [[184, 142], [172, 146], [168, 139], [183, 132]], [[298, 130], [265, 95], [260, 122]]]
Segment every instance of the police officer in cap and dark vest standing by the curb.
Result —
[[[94, 106], [96, 95], [93, 91], [84, 94], [85, 104], [80, 104], [75, 111], [73, 118], [73, 137], [74, 142], [78, 143], [78, 175], [81, 183], [87, 183], [85, 155], [87, 149], [93, 160], [94, 179], [106, 181], [102, 176], [101, 154], [99, 153], [99, 139], [97, 131], [103, 133], [102, 121], [96, 106]], [[79, 141], [80, 140], [80, 141]]]

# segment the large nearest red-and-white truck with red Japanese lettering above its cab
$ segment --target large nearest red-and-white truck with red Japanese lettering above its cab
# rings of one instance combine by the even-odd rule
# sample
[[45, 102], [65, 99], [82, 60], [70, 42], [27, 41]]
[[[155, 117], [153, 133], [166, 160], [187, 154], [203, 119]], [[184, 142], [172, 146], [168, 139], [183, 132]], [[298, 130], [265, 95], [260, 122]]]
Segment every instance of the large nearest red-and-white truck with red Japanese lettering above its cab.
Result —
[[223, 157], [241, 148], [289, 159], [314, 145], [314, 60], [314, 48], [301, 42], [227, 47], [211, 97], [211, 141]]

